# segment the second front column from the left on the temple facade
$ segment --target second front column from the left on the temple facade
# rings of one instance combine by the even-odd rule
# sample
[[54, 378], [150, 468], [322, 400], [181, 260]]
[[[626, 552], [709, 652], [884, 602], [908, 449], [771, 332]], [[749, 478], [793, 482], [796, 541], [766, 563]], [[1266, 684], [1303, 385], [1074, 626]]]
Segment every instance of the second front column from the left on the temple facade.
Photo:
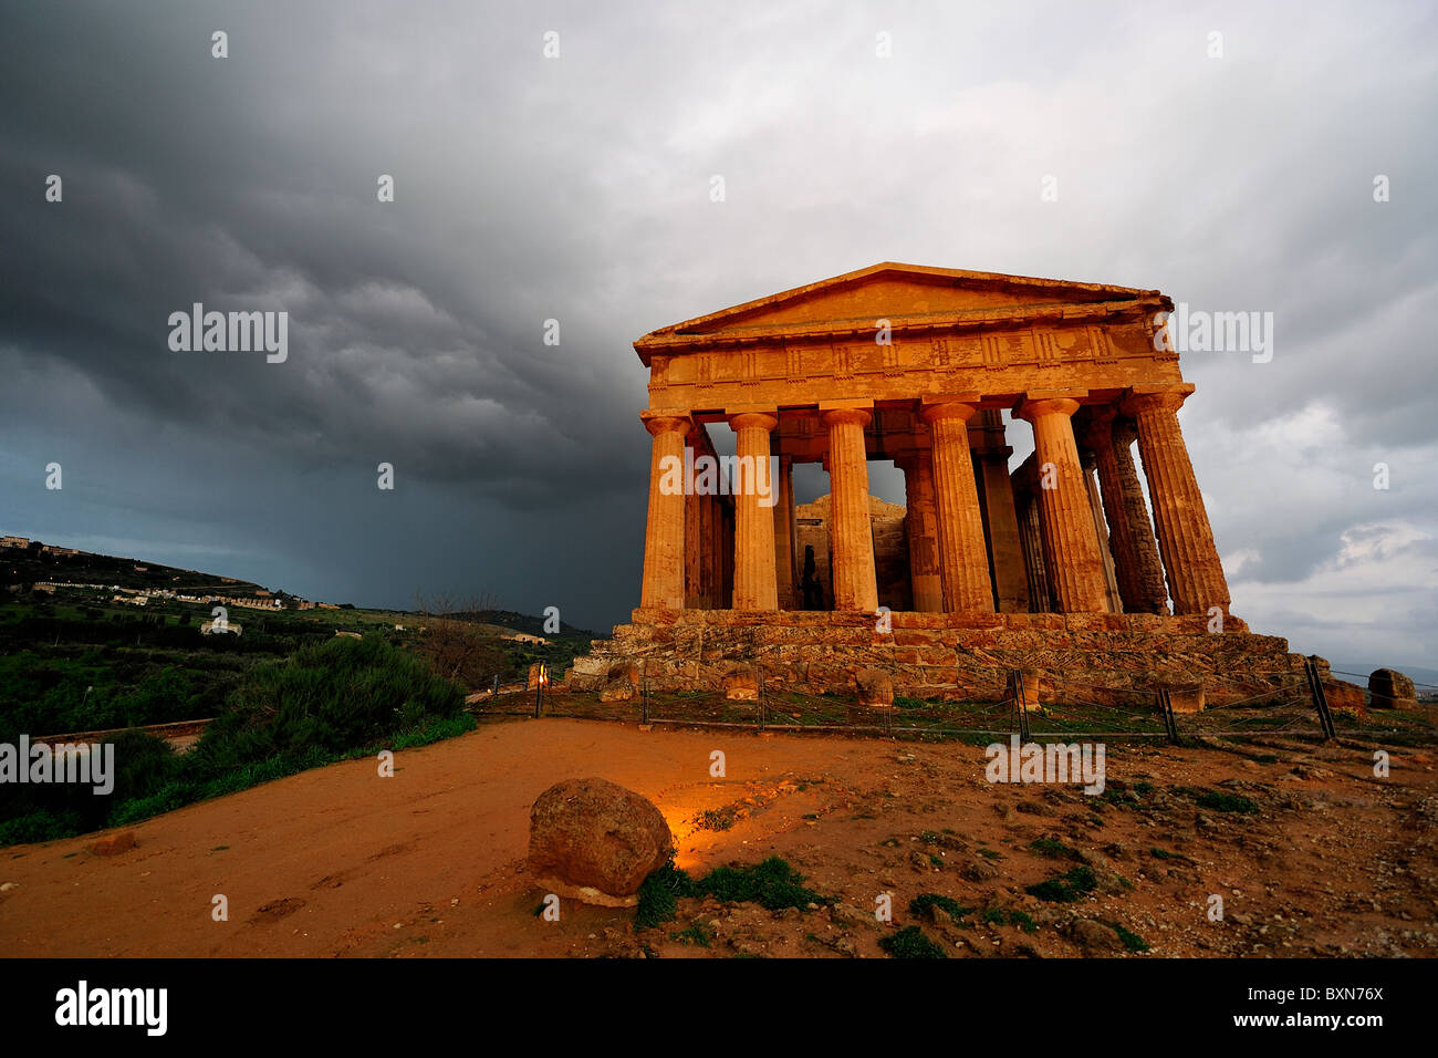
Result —
[[[731, 415], [739, 455], [733, 491], [733, 609], [779, 609], [774, 576], [774, 507], [777, 475], [769, 472], [769, 430], [779, 417], [768, 412]], [[748, 481], [745, 481], [748, 478]]]

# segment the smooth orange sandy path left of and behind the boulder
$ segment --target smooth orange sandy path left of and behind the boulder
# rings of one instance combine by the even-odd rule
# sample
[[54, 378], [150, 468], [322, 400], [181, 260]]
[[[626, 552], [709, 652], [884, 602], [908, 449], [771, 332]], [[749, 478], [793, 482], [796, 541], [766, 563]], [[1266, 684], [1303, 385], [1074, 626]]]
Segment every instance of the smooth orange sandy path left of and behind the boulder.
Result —
[[[840, 756], [856, 747], [840, 743]], [[728, 783], [709, 777], [715, 749], [728, 753]], [[393, 779], [355, 760], [158, 816], [128, 828], [138, 846], [119, 856], [89, 852], [95, 835], [7, 849], [0, 874], [19, 888], [0, 903], [0, 949], [331, 956], [426, 936], [426, 953], [519, 954], [538, 924], [538, 901], [521, 898], [529, 805], [552, 783], [601, 774], [653, 799], [679, 832], [736, 783], [834, 763], [833, 746], [807, 740], [495, 724], [397, 754]], [[229, 921], [211, 917], [216, 894]]]

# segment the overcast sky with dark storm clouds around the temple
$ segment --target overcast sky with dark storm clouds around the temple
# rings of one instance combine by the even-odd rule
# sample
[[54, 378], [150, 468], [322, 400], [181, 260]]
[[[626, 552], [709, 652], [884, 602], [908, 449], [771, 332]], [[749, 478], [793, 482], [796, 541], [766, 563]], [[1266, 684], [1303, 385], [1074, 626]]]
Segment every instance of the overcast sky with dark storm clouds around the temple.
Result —
[[[1234, 612], [1435, 665], [1435, 10], [7, 4], [0, 533], [607, 629], [643, 556], [630, 343], [902, 261], [1273, 312], [1270, 363], [1182, 357]], [[288, 311], [288, 360], [171, 351], [193, 302]]]

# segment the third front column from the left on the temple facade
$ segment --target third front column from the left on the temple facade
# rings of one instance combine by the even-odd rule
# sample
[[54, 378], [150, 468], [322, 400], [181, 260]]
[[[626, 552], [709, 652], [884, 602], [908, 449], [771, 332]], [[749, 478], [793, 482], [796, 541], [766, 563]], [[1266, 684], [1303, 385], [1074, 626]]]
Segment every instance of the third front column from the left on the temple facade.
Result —
[[828, 426], [834, 609], [873, 613], [879, 609], [879, 582], [869, 517], [869, 452], [864, 448], [864, 426], [870, 413], [861, 407], [843, 407], [823, 412], [821, 419]]

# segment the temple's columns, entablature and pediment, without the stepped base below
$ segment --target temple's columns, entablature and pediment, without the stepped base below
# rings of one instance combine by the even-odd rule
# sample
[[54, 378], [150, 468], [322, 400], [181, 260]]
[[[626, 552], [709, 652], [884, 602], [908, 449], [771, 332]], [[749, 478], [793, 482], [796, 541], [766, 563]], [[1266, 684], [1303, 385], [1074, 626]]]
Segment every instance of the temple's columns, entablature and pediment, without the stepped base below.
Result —
[[[1158, 291], [881, 263], [644, 335], [640, 612], [1172, 606], [1228, 620], [1178, 422], [1194, 386], [1165, 341], [1172, 307]], [[1005, 409], [1034, 443], [1012, 472]], [[710, 429], [732, 429], [738, 465], [756, 472], [674, 488], [666, 471], [715, 458]], [[905, 474], [903, 606], [879, 592], [869, 461]], [[818, 593], [795, 527], [804, 462], [823, 464], [831, 487]]]

